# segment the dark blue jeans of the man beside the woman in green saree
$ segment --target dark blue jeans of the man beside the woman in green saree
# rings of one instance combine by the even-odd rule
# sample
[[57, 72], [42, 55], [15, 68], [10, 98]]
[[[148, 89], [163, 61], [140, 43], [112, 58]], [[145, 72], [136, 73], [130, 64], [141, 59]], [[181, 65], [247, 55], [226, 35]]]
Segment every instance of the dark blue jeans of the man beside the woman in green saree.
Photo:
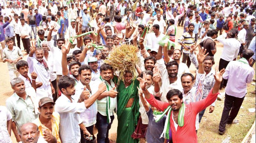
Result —
[[111, 128], [111, 124], [114, 120], [114, 115], [110, 116], [111, 122], [110, 124], [107, 123], [107, 116], [101, 115], [99, 112], [97, 113], [96, 119], [96, 127], [98, 129], [97, 134], [97, 143], [109, 143], [108, 139], [108, 131]]

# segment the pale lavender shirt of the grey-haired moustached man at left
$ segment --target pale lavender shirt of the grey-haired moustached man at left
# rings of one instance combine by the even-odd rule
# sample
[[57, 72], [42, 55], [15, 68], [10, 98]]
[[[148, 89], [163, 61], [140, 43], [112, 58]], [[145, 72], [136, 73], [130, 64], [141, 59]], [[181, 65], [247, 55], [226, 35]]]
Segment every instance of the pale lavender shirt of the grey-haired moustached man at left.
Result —
[[37, 74], [36, 81], [43, 83], [43, 85], [39, 88], [46, 88], [50, 86], [51, 83], [50, 83], [49, 70], [46, 71], [44, 64], [43, 63], [41, 64], [40, 62], [38, 62], [35, 57], [30, 57], [30, 56], [28, 56], [27, 62], [29, 67], [28, 68], [29, 73], [36, 72]]

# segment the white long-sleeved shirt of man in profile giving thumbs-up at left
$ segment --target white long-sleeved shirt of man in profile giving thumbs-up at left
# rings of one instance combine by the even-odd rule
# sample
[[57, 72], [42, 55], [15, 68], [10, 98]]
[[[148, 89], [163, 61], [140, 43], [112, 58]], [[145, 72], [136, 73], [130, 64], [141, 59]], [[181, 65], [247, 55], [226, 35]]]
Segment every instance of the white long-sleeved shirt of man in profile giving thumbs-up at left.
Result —
[[[64, 94], [56, 100], [54, 109], [60, 114], [60, 137], [62, 143], [79, 143], [81, 139], [79, 124], [82, 120], [78, 113], [86, 110], [84, 102], [72, 102]], [[67, 130], [68, 129], [68, 130]]]

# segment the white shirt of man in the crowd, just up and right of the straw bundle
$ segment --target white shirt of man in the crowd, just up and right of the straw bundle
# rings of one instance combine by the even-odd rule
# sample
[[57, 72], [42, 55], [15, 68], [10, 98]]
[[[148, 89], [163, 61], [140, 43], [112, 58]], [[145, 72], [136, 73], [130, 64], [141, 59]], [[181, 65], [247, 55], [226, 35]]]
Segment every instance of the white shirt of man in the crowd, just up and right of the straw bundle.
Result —
[[150, 48], [158, 49], [159, 48], [158, 41], [162, 40], [164, 36], [165, 35], [163, 33], [160, 33], [158, 37], [156, 37], [156, 34], [154, 32], [149, 33], [147, 38], [147, 43], [148, 43], [147, 46]]

